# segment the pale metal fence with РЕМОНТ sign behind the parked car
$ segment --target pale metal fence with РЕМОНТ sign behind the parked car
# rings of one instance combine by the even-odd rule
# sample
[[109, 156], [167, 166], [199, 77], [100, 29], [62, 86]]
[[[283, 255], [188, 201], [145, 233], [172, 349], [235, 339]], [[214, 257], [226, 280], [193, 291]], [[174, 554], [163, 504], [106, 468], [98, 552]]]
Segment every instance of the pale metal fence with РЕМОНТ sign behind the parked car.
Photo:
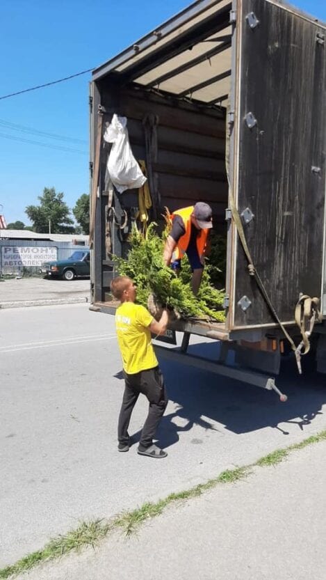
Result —
[[74, 250], [89, 246], [49, 240], [0, 240], [0, 275], [33, 275], [40, 272], [42, 262], [65, 260]]

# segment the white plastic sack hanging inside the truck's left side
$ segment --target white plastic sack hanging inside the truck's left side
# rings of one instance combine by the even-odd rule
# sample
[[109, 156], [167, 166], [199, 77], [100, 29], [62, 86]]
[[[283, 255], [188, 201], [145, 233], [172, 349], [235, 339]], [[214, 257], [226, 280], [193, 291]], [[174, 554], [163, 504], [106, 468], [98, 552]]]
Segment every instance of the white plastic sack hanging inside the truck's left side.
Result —
[[108, 173], [117, 191], [122, 194], [126, 189], [142, 187], [146, 178], [131, 151], [127, 118], [114, 114], [104, 133], [104, 140], [113, 143], [108, 156]]

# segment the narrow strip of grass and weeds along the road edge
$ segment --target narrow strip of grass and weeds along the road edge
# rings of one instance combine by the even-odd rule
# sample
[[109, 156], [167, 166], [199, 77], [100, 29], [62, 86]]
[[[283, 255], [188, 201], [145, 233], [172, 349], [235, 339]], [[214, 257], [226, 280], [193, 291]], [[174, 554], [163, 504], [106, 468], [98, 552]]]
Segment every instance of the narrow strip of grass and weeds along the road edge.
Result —
[[60, 558], [60, 556], [65, 556], [73, 551], [78, 552], [89, 546], [95, 547], [100, 540], [119, 529], [127, 536], [130, 536], [148, 519], [161, 515], [168, 505], [181, 503], [193, 497], [200, 496], [218, 485], [236, 483], [250, 476], [254, 469], [275, 466], [285, 460], [294, 451], [319, 443], [320, 441], [326, 441], [326, 430], [312, 435], [298, 444], [277, 449], [261, 457], [254, 464], [222, 471], [219, 476], [206, 481], [206, 483], [201, 483], [195, 487], [186, 489], [184, 492], [170, 494], [165, 499], [160, 499], [156, 503], [144, 503], [140, 508], [122, 512], [111, 519], [96, 519], [91, 522], [81, 522], [76, 529], [49, 540], [42, 549], [31, 552], [31, 554], [24, 556], [24, 558], [21, 558], [15, 564], [2, 568], [0, 570], [0, 579], [4, 580], [10, 577], [16, 577], [18, 574], [31, 570], [31, 568], [41, 563], [54, 561]]

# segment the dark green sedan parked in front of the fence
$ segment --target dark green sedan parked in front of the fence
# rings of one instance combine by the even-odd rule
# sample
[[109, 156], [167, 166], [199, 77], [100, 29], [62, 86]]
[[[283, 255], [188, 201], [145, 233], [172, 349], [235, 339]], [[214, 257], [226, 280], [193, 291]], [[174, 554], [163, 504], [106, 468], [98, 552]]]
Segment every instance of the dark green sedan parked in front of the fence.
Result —
[[70, 258], [66, 260], [55, 260], [54, 262], [44, 262], [41, 267], [42, 274], [58, 277], [65, 280], [74, 280], [76, 276], [90, 275], [90, 251], [76, 250]]

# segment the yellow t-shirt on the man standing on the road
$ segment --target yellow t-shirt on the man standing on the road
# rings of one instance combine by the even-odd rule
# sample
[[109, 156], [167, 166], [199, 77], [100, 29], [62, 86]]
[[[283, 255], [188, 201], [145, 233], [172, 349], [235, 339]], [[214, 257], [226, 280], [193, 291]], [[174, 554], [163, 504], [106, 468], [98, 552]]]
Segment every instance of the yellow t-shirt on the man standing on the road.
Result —
[[122, 354], [124, 371], [128, 375], [140, 373], [158, 365], [152, 336], [149, 331], [153, 317], [144, 308], [133, 302], [123, 302], [115, 313], [117, 341]]

